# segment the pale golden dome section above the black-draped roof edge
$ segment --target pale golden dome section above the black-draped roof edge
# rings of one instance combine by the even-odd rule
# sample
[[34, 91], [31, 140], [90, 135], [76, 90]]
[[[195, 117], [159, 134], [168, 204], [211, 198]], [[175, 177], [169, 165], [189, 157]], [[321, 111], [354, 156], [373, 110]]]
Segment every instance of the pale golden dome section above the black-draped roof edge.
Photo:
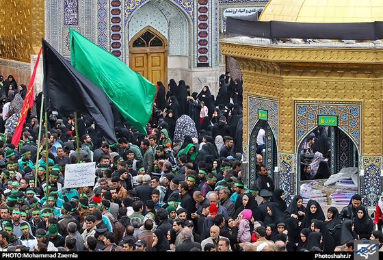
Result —
[[270, 0], [259, 21], [297, 23], [383, 21], [383, 0]]

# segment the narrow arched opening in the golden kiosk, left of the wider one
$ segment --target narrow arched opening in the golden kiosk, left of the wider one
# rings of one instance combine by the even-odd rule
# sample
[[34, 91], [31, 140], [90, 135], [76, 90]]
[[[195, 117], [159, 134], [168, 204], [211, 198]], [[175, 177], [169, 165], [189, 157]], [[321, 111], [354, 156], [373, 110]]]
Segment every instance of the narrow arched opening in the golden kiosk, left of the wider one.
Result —
[[276, 140], [274, 138], [274, 133], [269, 123], [265, 120], [259, 120], [254, 125], [250, 135], [250, 161], [249, 161], [249, 186], [254, 184], [256, 179], [256, 139], [258, 137], [260, 129], [263, 128], [265, 130], [265, 146], [262, 149], [262, 159], [267, 168], [267, 174], [274, 180], [274, 168], [277, 164], [277, 145]]

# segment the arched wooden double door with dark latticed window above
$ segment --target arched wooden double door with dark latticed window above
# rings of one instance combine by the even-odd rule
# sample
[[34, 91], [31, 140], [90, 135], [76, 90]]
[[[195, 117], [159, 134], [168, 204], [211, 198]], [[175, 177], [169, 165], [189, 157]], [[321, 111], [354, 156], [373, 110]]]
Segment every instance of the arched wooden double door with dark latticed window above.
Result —
[[129, 66], [156, 84], [168, 81], [168, 40], [153, 27], [145, 27], [129, 42]]

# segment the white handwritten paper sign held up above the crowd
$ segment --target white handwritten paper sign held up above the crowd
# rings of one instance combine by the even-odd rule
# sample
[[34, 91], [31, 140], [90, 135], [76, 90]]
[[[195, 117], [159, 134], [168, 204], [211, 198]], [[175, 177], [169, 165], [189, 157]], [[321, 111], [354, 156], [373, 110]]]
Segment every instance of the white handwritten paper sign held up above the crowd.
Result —
[[64, 187], [94, 186], [96, 162], [67, 164], [65, 166]]

